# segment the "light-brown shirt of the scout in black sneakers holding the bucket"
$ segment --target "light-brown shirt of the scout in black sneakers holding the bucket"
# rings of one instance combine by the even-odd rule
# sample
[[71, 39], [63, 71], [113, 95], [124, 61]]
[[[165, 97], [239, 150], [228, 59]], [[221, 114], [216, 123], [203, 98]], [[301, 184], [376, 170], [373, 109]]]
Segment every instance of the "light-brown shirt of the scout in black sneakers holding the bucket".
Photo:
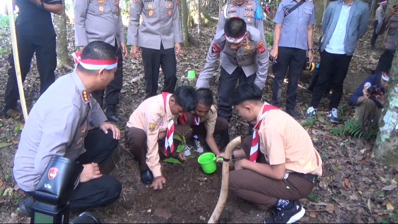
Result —
[[[257, 120], [262, 114], [261, 108]], [[258, 131], [260, 151], [270, 165], [285, 163], [286, 172], [322, 176], [322, 159], [308, 132], [289, 114], [270, 110]]]

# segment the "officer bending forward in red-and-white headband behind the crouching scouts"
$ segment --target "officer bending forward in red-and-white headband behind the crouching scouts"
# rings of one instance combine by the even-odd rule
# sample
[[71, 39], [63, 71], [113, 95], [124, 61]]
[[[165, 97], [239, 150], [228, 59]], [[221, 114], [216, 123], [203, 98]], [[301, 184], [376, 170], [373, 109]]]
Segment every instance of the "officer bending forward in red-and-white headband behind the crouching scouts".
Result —
[[[208, 88], [218, 58], [221, 57], [218, 115], [228, 122], [232, 116], [230, 93], [238, 83], [254, 83], [261, 90], [267, 79], [269, 53], [258, 29], [247, 26], [242, 18], [229, 18], [218, 31], [207, 53], [196, 87]], [[224, 136], [228, 138], [227, 136]]]

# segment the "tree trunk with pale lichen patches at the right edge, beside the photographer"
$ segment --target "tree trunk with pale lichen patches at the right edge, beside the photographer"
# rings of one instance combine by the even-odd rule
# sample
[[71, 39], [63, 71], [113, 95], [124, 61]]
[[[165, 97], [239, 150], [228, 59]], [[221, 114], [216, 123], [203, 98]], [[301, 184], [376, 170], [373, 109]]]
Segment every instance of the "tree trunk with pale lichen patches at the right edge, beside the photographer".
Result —
[[[398, 0], [389, 2], [390, 6]], [[373, 151], [384, 165], [398, 165], [398, 48], [392, 60], [390, 83], [386, 93], [386, 104], [380, 120], [380, 128]]]

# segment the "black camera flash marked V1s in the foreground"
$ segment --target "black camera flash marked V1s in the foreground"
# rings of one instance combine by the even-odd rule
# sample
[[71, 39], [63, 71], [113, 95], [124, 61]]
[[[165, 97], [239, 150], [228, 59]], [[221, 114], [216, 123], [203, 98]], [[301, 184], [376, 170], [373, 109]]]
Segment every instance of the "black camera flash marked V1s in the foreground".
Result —
[[[50, 159], [33, 198], [31, 223], [69, 223], [70, 196], [79, 184], [83, 166], [62, 156]], [[83, 212], [70, 223], [101, 223], [94, 214]]]

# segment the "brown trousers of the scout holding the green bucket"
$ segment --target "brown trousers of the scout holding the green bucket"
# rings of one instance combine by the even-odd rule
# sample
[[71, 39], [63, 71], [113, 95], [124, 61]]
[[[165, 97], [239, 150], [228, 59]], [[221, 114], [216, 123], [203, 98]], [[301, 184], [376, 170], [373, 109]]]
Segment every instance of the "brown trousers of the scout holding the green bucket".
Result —
[[[250, 156], [251, 146], [252, 136], [248, 136], [242, 142], [247, 158]], [[258, 154], [257, 163], [267, 163], [265, 155], [261, 152]], [[275, 205], [279, 199], [300, 200], [306, 198], [314, 186], [314, 183], [298, 177], [294, 173], [289, 173], [286, 180], [271, 179], [248, 169], [231, 171], [229, 174], [230, 193], [248, 200], [264, 210]]]

